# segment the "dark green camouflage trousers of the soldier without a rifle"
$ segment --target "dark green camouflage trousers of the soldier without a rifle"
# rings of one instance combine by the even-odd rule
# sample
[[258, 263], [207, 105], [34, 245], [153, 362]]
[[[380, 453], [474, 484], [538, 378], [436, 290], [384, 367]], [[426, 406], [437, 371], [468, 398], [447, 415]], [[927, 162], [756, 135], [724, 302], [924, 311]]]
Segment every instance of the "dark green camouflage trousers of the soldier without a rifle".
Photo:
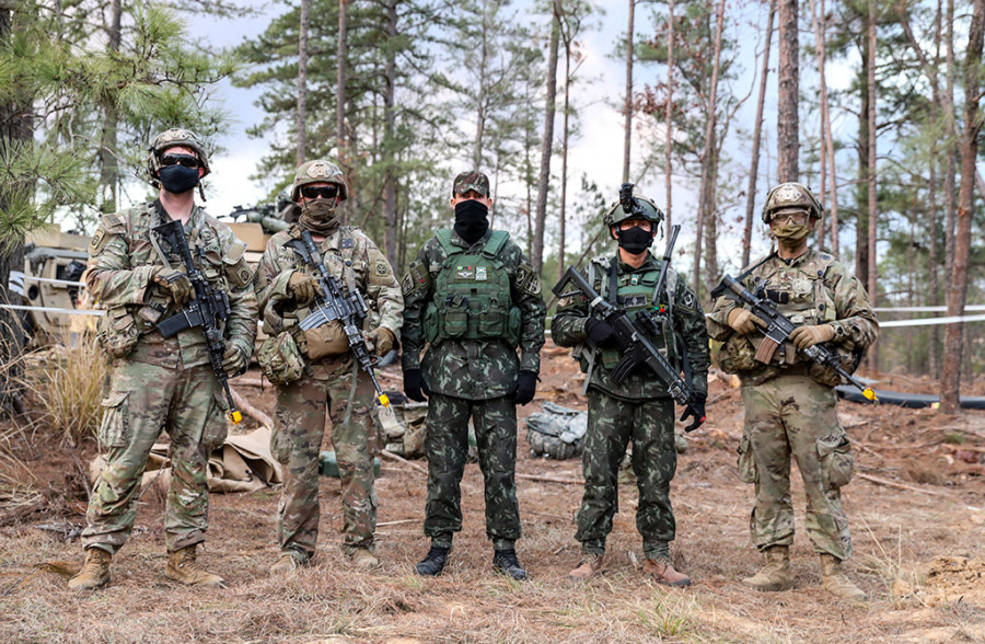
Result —
[[425, 534], [433, 545], [451, 548], [462, 530], [462, 474], [468, 453], [468, 417], [475, 427], [486, 496], [486, 537], [497, 550], [520, 538], [517, 465], [517, 405], [506, 396], [467, 400], [432, 393], [428, 399], [425, 450], [428, 506]]

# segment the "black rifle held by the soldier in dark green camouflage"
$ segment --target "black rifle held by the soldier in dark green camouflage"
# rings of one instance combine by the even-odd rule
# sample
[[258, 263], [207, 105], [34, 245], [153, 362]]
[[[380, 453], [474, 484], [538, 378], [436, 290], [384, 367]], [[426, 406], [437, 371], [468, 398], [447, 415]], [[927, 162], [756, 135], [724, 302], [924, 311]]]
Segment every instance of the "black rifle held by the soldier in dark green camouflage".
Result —
[[[669, 263], [669, 255], [673, 250], [679, 230], [680, 227], [675, 226], [672, 238], [668, 242], [664, 269], [661, 272], [661, 278], [657, 286], [661, 290], [663, 288], [663, 278], [667, 275], [665, 265]], [[650, 335], [662, 333], [650, 311], [638, 311], [634, 321], [625, 309], [606, 301], [600, 296], [592, 285], [589, 284], [589, 280], [573, 266], [569, 266], [561, 276], [560, 281], [554, 285], [554, 288], [552, 288], [554, 295], [560, 297], [568, 283], [573, 283], [588, 300], [589, 308], [595, 311], [613, 329], [615, 342], [622, 353], [619, 361], [616, 363], [616, 366], [609, 373], [613, 381], [622, 382], [636, 367], [646, 365], [667, 386], [667, 392], [679, 404], [687, 406], [694, 402], [694, 390], [691, 389], [691, 386], [684, 381], [681, 373], [648, 338]], [[659, 297], [660, 294], [659, 291], [657, 292]], [[672, 337], [664, 340], [668, 343], [673, 342]], [[700, 425], [704, 421], [705, 418], [700, 418], [697, 424]]]

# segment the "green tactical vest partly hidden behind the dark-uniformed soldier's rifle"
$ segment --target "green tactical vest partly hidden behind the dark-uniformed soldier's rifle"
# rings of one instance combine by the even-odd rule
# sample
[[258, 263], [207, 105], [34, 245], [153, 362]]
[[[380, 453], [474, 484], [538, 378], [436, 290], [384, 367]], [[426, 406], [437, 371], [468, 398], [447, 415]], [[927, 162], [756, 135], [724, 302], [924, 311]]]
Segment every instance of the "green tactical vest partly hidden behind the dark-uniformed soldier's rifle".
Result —
[[[615, 297], [612, 295], [612, 271], [614, 269], [610, 262], [599, 257], [592, 261], [589, 267], [589, 281], [594, 279], [596, 265], [601, 268], [602, 285], [599, 294], [610, 302], [618, 304], [626, 309], [629, 318], [635, 321], [636, 313], [639, 311], [650, 311], [650, 317], [657, 322], [659, 330], [658, 335], [648, 335], [647, 340], [653, 343], [668, 360], [676, 366], [681, 366], [681, 354], [677, 349], [676, 336], [673, 327], [673, 302], [674, 289], [677, 284], [676, 272], [668, 267], [667, 278], [664, 280], [664, 292], [659, 297], [656, 292], [657, 280], [660, 279], [660, 271], [647, 271], [646, 273], [628, 273], [616, 277]], [[659, 300], [659, 301], [658, 301]], [[661, 303], [662, 302], [662, 303]], [[667, 338], [671, 338], [668, 342]], [[587, 347], [586, 347], [587, 348]], [[582, 370], [588, 368], [588, 356], [583, 352], [581, 356]], [[617, 347], [603, 348], [600, 352], [602, 366], [606, 371], [611, 370], [619, 361], [619, 349]]]

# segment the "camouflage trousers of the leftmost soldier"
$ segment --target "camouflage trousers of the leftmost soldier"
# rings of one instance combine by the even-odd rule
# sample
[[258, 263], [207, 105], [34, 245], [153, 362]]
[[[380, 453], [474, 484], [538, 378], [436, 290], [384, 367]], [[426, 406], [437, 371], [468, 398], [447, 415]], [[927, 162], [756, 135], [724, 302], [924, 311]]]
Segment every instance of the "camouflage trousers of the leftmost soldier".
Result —
[[209, 365], [182, 369], [117, 361], [100, 426], [108, 467], [89, 505], [85, 548], [115, 553], [126, 543], [147, 459], [162, 426], [171, 436], [172, 462], [164, 541], [174, 552], [205, 540], [209, 452], [227, 433], [221, 391]]

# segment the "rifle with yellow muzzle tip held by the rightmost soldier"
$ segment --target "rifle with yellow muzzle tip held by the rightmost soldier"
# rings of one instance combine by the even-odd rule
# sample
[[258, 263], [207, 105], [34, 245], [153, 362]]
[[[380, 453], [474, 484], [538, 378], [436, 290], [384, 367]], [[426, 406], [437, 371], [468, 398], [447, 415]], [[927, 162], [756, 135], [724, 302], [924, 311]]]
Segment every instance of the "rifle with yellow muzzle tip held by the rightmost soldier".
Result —
[[[739, 302], [740, 306], [745, 307], [761, 320], [766, 322], [766, 329], [761, 329], [765, 338], [756, 350], [756, 360], [768, 365], [769, 360], [773, 359], [776, 349], [789, 340], [790, 333], [797, 329], [797, 324], [777, 310], [776, 303], [766, 296], [766, 292], [762, 287], [760, 287], [755, 294], [752, 294], [731, 275], [723, 276], [718, 286], [711, 291], [711, 297], [715, 299], [718, 299], [721, 296], [726, 296], [730, 300]], [[876, 392], [843, 369], [838, 356], [826, 347], [815, 344], [814, 346], [798, 350], [810, 360], [823, 367], [834, 369], [845, 380], [857, 387], [867, 400], [876, 402]]]

